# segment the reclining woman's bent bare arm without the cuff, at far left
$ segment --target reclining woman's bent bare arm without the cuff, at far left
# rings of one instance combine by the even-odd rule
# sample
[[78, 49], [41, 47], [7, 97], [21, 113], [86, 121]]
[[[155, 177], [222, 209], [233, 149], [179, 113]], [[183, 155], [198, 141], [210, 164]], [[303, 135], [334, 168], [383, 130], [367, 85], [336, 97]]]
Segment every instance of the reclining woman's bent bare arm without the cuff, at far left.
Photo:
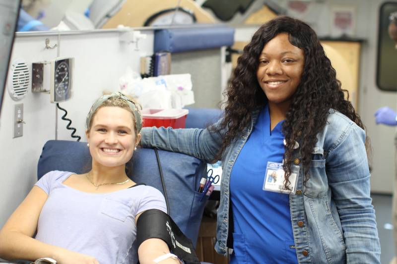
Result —
[[93, 257], [45, 244], [32, 238], [47, 198], [48, 195], [42, 189], [34, 186], [25, 200], [11, 214], [0, 231], [0, 257], [7, 260], [37, 260], [48, 257], [60, 264], [98, 264]]

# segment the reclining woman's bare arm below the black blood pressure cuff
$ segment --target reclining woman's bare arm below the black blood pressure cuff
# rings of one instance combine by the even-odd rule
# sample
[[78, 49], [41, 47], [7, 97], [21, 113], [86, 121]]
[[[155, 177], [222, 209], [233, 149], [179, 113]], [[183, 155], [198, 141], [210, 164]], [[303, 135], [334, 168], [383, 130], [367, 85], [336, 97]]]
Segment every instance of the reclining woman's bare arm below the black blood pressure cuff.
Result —
[[[138, 220], [138, 217], [142, 214], [138, 213], [135, 217], [135, 223]], [[138, 257], [140, 264], [154, 264], [153, 260], [157, 259], [160, 256], [163, 256], [167, 253], [170, 253], [167, 243], [159, 238], [149, 238], [140, 244], [138, 248]], [[179, 264], [178, 260], [174, 260], [172, 258], [165, 259], [160, 264]]]

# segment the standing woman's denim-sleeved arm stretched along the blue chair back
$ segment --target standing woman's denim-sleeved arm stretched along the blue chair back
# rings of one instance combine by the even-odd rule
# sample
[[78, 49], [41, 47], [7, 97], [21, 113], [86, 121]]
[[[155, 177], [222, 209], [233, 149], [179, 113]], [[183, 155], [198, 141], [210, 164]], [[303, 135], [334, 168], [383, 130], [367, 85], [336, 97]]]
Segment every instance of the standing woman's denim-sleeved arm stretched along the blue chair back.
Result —
[[[216, 127], [221, 120], [214, 124], [214, 126]], [[215, 157], [220, 148], [223, 134], [223, 131], [216, 133], [208, 129], [199, 128], [172, 129], [144, 127], [141, 130], [141, 146], [180, 152], [201, 160], [210, 161]]]

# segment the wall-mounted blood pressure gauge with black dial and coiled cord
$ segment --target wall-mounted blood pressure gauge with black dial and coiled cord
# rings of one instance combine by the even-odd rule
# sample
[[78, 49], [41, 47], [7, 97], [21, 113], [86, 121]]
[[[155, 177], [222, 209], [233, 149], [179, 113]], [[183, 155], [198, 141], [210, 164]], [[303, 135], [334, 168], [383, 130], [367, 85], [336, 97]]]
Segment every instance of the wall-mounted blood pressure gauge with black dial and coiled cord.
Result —
[[51, 103], [64, 102], [72, 96], [73, 58], [51, 61]]

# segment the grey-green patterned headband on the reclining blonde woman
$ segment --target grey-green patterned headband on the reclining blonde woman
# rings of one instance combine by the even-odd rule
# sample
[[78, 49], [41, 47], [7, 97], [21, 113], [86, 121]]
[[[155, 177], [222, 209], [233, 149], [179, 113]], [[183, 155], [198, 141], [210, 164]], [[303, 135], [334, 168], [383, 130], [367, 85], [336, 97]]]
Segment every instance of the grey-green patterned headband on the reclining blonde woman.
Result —
[[142, 118], [139, 112], [138, 107], [135, 105], [134, 102], [132, 102], [130, 99], [128, 99], [125, 95], [123, 95], [120, 92], [114, 92], [110, 95], [103, 95], [101, 96], [92, 106], [90, 111], [88, 112], [87, 119], [85, 120], [85, 126], [87, 129], [89, 129], [92, 114], [98, 109], [99, 106], [103, 104], [106, 100], [110, 98], [117, 98], [119, 97], [120, 99], [124, 100], [127, 105], [130, 107], [132, 110], [133, 116], [135, 117], [135, 126], [136, 126], [136, 131], [139, 133], [140, 129], [142, 128]]

